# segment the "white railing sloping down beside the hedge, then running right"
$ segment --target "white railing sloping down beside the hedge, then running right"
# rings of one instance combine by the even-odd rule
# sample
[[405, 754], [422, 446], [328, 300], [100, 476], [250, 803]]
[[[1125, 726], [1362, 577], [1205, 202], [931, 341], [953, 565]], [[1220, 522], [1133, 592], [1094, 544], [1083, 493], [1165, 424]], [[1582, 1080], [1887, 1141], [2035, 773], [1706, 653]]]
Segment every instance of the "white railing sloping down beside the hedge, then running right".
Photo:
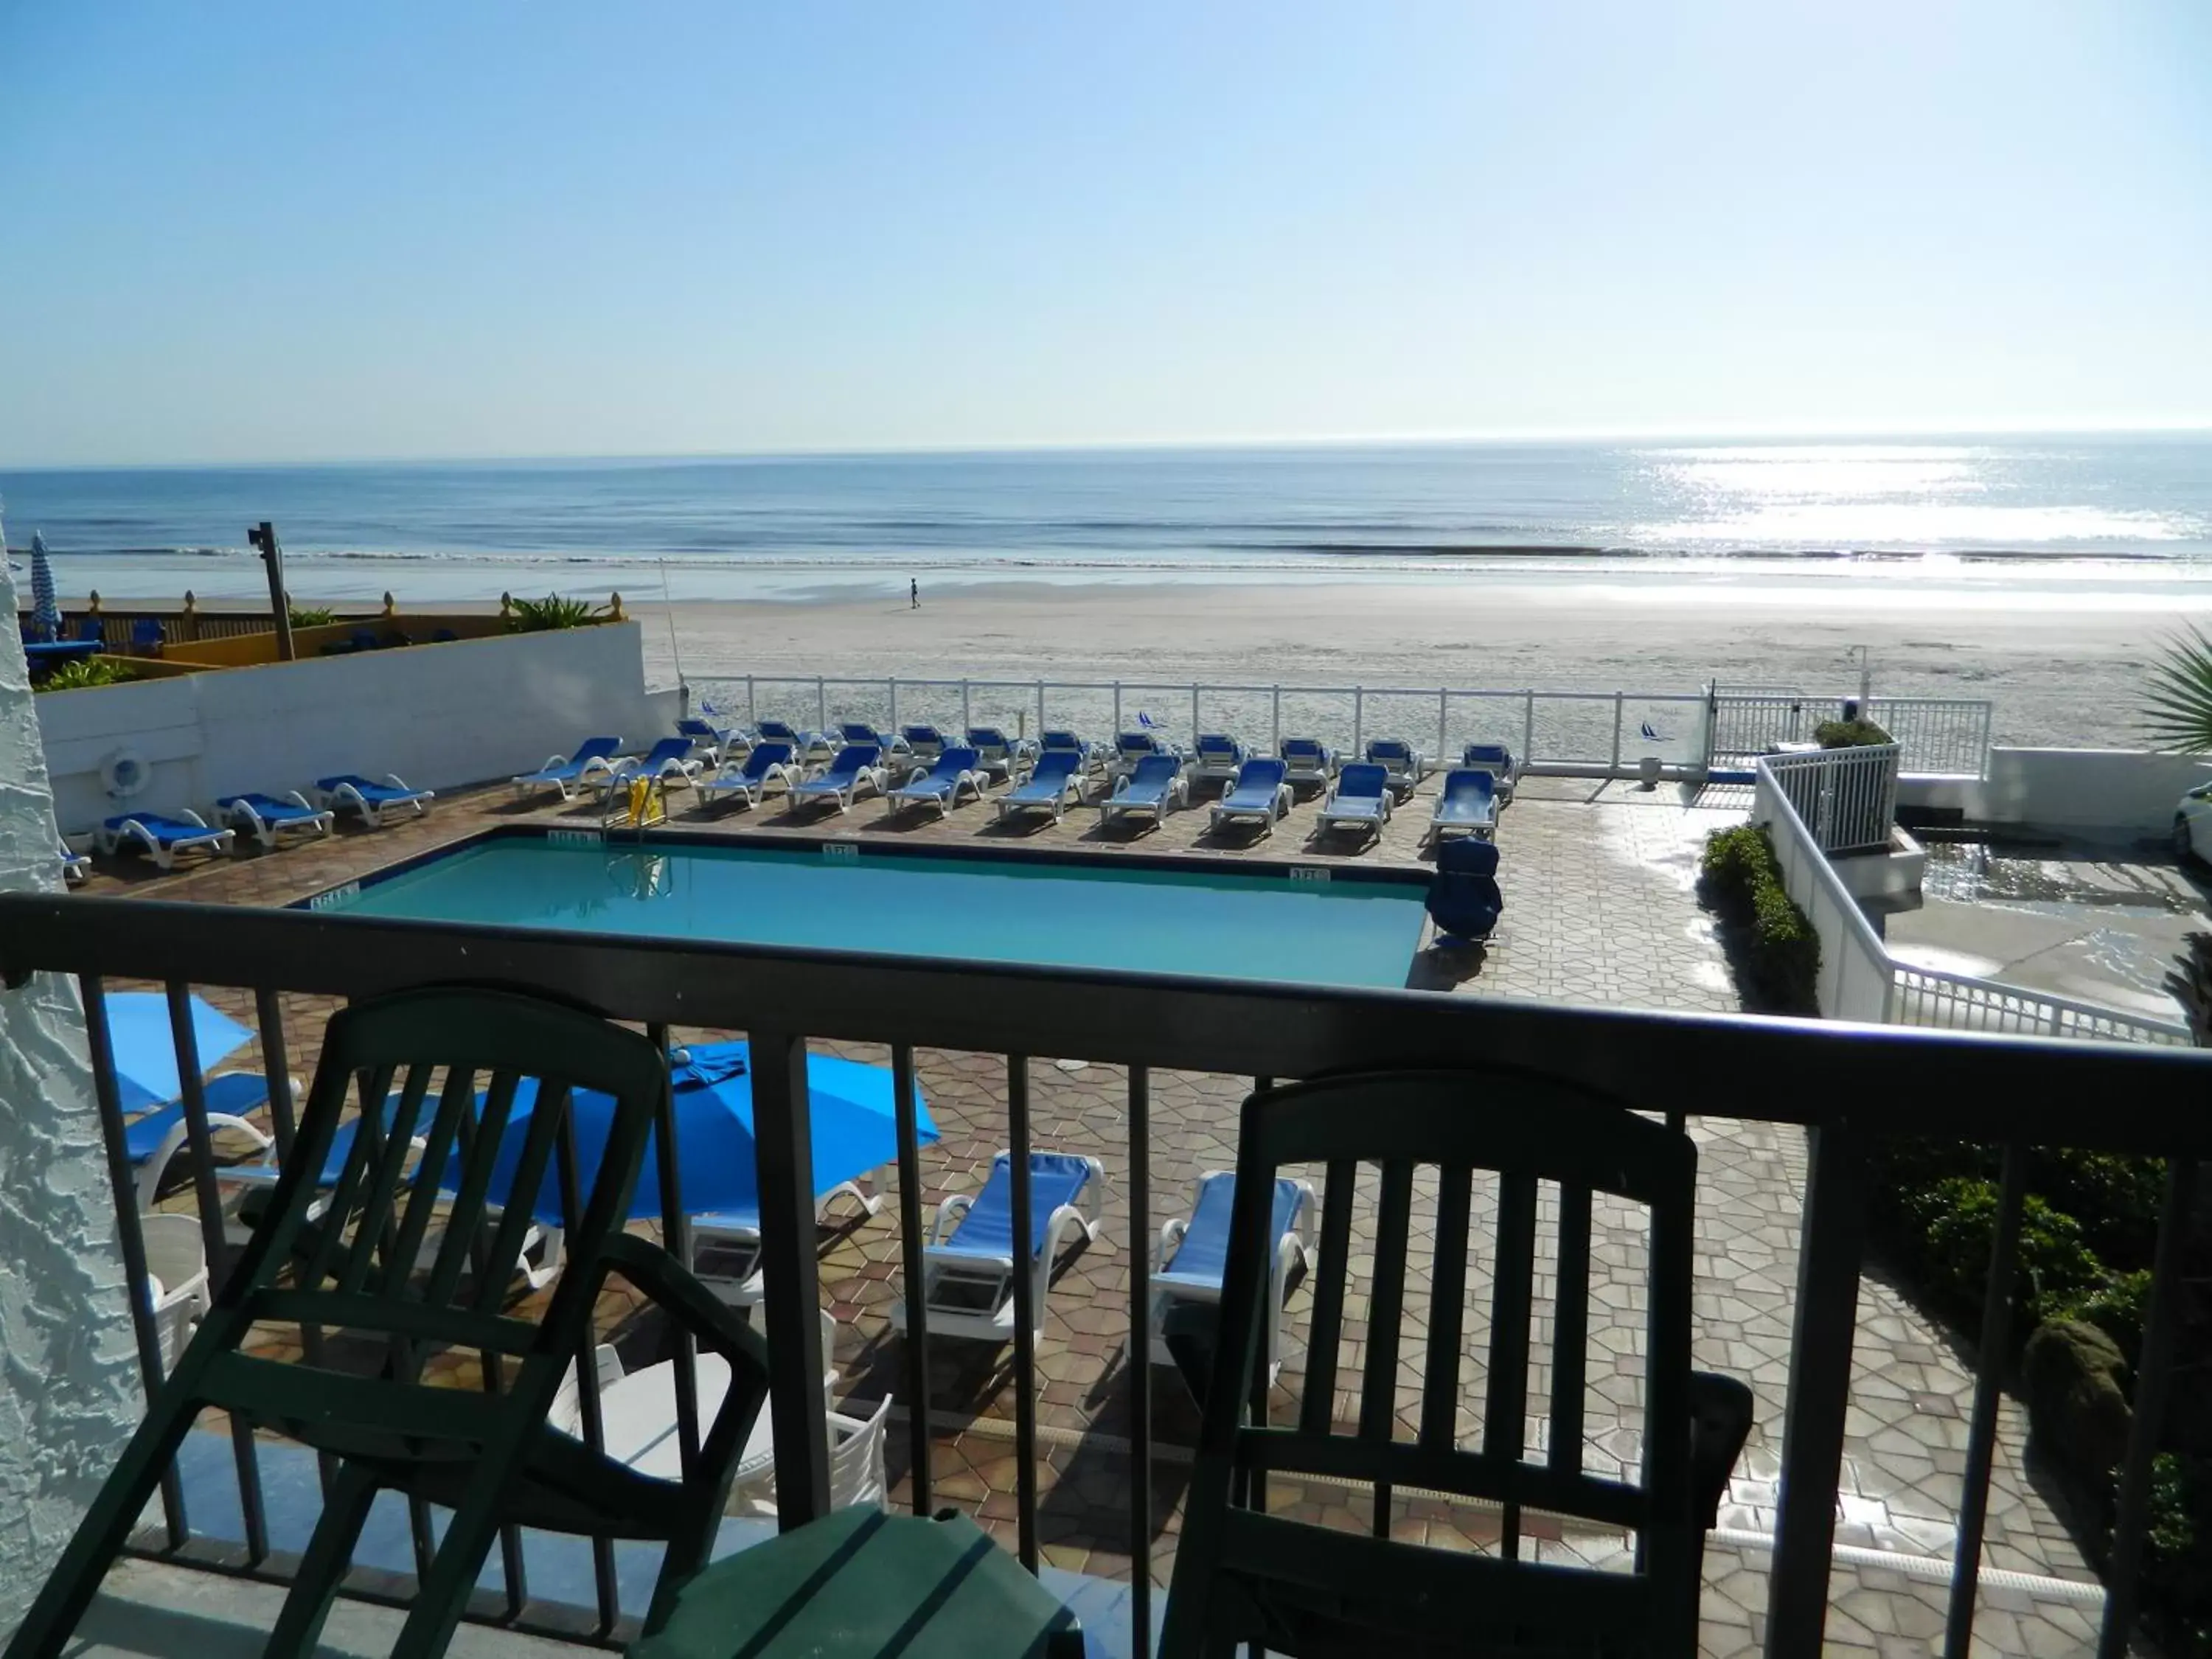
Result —
[[2075, 1002], [2017, 984], [1975, 980], [1964, 973], [1898, 962], [1874, 931], [1874, 922], [1845, 889], [1814, 832], [1781, 783], [1778, 761], [1754, 763], [1756, 794], [1752, 823], [1774, 841], [1774, 863], [1783, 887], [1820, 936], [1820, 1013], [1829, 1020], [1869, 1024], [1944, 1026], [1949, 1031], [2000, 1031], [2026, 1037], [2088, 1037], [2099, 1042], [2188, 1044], [2179, 1022], [2154, 1020], [2126, 1009]]

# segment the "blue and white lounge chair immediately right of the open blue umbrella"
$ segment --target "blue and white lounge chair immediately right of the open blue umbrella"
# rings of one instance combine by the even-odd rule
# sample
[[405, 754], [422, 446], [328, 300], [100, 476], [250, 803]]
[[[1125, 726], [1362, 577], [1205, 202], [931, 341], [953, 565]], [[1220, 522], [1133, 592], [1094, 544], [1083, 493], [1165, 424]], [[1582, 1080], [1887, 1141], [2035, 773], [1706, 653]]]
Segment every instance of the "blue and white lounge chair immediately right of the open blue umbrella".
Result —
[[[1011, 1152], [998, 1155], [991, 1179], [973, 1199], [956, 1194], [938, 1206], [922, 1248], [922, 1305], [931, 1336], [1011, 1343], [1018, 1296], [1029, 1303], [1029, 1327], [1044, 1325], [1044, 1296], [1062, 1248], [1097, 1239], [1106, 1170], [1095, 1157], [1031, 1152], [1029, 1183], [1031, 1232], [1020, 1250], [1013, 1239]], [[905, 1301], [891, 1303], [891, 1329], [907, 1329]]]

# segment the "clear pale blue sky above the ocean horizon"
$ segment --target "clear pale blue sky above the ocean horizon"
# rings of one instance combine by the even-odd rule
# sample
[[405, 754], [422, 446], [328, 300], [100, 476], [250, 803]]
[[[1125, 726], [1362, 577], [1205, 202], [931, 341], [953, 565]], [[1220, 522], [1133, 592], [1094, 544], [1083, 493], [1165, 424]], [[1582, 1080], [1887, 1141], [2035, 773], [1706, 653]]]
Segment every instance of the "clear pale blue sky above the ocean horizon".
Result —
[[0, 462], [2212, 425], [2208, 88], [2203, 0], [7, 4]]

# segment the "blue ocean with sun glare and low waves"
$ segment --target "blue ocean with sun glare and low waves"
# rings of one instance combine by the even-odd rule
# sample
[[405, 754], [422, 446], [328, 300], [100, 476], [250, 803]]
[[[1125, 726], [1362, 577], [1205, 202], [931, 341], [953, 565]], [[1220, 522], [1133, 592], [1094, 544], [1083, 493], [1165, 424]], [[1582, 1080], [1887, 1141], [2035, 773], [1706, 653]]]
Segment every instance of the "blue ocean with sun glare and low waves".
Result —
[[2212, 434], [0, 467], [64, 593], [801, 599], [973, 582], [2212, 580]]

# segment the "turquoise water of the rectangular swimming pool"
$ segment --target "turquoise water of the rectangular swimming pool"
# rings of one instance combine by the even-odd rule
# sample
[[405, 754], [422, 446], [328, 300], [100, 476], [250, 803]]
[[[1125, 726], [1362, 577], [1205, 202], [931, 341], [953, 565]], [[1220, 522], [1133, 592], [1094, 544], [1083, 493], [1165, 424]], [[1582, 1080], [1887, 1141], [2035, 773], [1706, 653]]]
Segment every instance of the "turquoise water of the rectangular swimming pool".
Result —
[[1402, 987], [1420, 883], [1290, 880], [1135, 860], [816, 847], [602, 847], [500, 836], [319, 909], [670, 940]]

